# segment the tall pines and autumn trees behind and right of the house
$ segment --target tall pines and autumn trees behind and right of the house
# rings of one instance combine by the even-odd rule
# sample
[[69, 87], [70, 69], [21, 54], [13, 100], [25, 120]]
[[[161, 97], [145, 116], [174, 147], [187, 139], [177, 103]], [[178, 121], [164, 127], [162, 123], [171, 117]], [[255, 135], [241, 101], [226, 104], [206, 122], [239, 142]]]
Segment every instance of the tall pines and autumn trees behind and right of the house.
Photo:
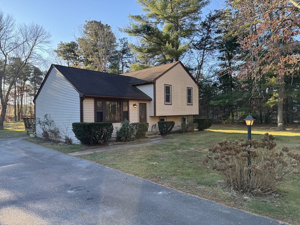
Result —
[[[251, 113], [260, 123], [277, 123], [277, 130], [282, 130], [286, 123], [299, 122], [298, 0], [229, 0], [222, 10], [206, 16], [201, 16], [201, 10], [209, 4], [206, 0], [138, 0], [137, 3], [144, 13], [128, 15], [130, 23], [119, 31], [95, 20], [77, 26], [73, 40], [61, 42], [54, 50], [56, 63], [121, 74], [181, 60], [201, 86], [199, 116], [232, 123]], [[22, 37], [22, 26], [11, 30]], [[33, 25], [27, 29], [30, 26]], [[131, 38], [118, 38], [119, 32]], [[7, 36], [2, 33], [1, 51], [9, 52], [2, 41]], [[47, 46], [49, 39], [43, 44]], [[3, 68], [18, 58], [7, 54], [9, 62], [5, 61], [5, 54], [1, 57], [6, 63]], [[26, 57], [20, 59], [24, 61]], [[36, 65], [35, 57], [29, 59], [25, 64]], [[1, 104], [4, 103], [1, 117], [4, 89], [7, 87], [10, 93], [21, 79], [19, 70], [18, 75], [7, 79], [9, 85], [4, 85], [5, 70], [0, 70], [0, 97]]]

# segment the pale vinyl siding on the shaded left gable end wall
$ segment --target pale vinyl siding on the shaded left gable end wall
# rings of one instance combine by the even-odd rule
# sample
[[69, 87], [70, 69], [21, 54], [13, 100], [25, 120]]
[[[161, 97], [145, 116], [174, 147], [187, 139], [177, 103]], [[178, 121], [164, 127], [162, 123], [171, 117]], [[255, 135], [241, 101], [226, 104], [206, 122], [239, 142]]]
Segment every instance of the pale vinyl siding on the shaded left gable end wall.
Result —
[[[80, 122], [79, 93], [54, 67], [35, 100], [35, 117], [43, 119], [45, 114], [53, 120], [51, 128], [56, 126], [59, 129], [60, 140], [64, 140], [62, 131], [65, 131], [73, 143], [79, 143], [72, 131], [72, 123]], [[36, 124], [37, 136], [42, 137], [42, 132]]]

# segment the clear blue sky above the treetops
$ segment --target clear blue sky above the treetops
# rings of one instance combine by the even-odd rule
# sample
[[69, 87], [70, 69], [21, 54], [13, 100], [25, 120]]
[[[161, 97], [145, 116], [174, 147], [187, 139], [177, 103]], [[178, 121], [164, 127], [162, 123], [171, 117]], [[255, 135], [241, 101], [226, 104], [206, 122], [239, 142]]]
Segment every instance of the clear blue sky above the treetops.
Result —
[[[213, 2], [202, 11], [207, 13], [216, 7]], [[44, 26], [52, 33], [53, 48], [60, 41], [73, 40], [71, 33], [76, 24], [84, 24], [85, 20], [101, 20], [114, 28], [123, 28], [129, 24], [128, 14], [143, 13], [135, 0], [1, 0], [0, 8], [4, 13], [13, 14], [17, 23], [34, 21]]]

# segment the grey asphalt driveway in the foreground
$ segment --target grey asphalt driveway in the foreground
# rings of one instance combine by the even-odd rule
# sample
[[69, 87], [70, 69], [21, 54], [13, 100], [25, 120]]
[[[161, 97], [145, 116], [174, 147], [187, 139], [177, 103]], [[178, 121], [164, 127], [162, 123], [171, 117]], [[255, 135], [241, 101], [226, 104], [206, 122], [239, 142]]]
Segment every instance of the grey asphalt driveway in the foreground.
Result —
[[35, 145], [0, 140], [0, 224], [278, 224]]

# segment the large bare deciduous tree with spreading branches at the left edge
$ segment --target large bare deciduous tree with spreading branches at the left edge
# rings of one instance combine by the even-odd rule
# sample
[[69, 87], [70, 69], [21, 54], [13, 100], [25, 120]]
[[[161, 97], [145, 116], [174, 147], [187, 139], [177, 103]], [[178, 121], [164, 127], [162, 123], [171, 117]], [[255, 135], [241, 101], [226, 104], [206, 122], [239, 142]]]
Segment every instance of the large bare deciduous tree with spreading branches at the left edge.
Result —
[[[0, 100], [2, 105], [0, 129], [3, 129], [8, 96], [16, 79], [26, 65], [44, 63], [43, 54], [48, 51], [51, 34], [43, 26], [34, 22], [16, 24], [10, 14], [0, 10]], [[13, 74], [8, 74], [7, 66], [14, 62]]]

